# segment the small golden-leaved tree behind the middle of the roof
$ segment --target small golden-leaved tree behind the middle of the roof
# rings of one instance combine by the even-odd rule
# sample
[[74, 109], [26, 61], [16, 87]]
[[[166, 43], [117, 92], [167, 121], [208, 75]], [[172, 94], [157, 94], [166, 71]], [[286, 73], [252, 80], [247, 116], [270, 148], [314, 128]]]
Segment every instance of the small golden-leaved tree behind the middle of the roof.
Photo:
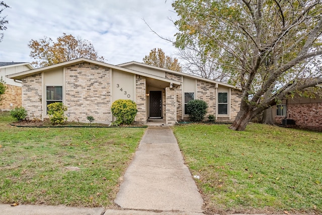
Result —
[[149, 55], [145, 55], [145, 57], [143, 57], [143, 63], [175, 71], [181, 71], [181, 66], [178, 62], [178, 59], [166, 55], [165, 52], [160, 48], [153, 48]]

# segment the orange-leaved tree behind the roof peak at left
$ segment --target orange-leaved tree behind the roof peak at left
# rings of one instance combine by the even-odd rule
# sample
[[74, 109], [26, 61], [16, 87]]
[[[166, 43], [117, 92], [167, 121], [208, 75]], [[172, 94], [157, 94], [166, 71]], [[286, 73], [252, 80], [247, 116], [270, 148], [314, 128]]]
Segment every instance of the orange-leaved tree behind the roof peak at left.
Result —
[[80, 37], [75, 38], [71, 34], [63, 33], [62, 36], [57, 38], [57, 42], [46, 36], [43, 39], [30, 40], [28, 47], [31, 48], [29, 56], [35, 59], [32, 64], [37, 67], [61, 63], [79, 57], [105, 61], [104, 57], [99, 57], [90, 41]]

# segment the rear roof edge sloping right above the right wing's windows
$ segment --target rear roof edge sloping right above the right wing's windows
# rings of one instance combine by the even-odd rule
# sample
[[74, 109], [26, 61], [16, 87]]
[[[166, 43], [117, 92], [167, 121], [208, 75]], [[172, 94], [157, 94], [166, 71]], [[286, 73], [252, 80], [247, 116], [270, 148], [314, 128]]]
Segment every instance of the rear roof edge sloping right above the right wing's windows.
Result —
[[145, 64], [145, 63], [136, 62], [136, 61], [131, 61], [131, 62], [127, 62], [127, 63], [118, 64], [118, 66], [121, 66], [121, 67], [127, 66], [127, 65], [139, 65], [139, 66], [146, 67], [146, 68], [152, 68], [152, 69], [156, 69], [156, 70], [159, 70], [159, 71], [166, 71], [167, 73], [176, 74], [176, 75], [179, 75], [179, 76], [192, 78], [192, 79], [197, 79], [197, 80], [200, 80], [200, 81], [209, 82], [209, 83], [213, 83], [213, 84], [218, 84], [218, 85], [221, 85], [221, 86], [225, 86], [225, 87], [240, 90], [239, 88], [237, 88], [235, 86], [225, 84], [225, 83], [222, 83], [222, 82], [217, 82], [217, 81], [214, 81], [214, 80], [205, 79], [205, 78], [201, 78], [201, 77], [198, 77], [198, 76], [193, 76], [193, 75], [190, 75], [190, 74], [187, 74], [187, 73], [183, 73], [181, 71], [175, 71], [175, 70], [171, 70], [171, 69], [167, 69], [167, 68], [161, 68], [161, 67], [158, 67], [158, 66], [153, 66], [153, 65], [149, 65], [149, 64]]

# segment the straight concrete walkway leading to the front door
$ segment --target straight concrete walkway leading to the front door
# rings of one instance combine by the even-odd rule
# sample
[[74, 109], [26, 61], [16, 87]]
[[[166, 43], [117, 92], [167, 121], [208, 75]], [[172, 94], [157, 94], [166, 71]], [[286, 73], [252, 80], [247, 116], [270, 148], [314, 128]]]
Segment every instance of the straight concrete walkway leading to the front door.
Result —
[[115, 203], [124, 209], [202, 212], [203, 200], [170, 127], [148, 127]]

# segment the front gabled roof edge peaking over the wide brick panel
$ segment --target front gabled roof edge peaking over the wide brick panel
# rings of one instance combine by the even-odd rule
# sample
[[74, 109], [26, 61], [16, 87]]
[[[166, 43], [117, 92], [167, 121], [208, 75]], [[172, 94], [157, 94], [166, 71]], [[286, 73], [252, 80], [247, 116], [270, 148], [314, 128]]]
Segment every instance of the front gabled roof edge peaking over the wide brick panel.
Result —
[[93, 64], [96, 64], [96, 65], [101, 65], [101, 66], [116, 69], [116, 70], [126, 71], [127, 73], [132, 73], [132, 74], [135, 74], [135, 75], [140, 75], [140, 76], [152, 78], [152, 79], [156, 79], [156, 80], [159, 80], [159, 81], [173, 83], [175, 85], [181, 85], [181, 82], [178, 82], [178, 81], [173, 81], [173, 80], [170, 80], [170, 79], [154, 76], [154, 75], [151, 75], [151, 74], [142, 73], [142, 72], [137, 71], [137, 70], [124, 68], [124, 67], [120, 67], [120, 66], [117, 66], [117, 65], [112, 65], [112, 64], [97, 61], [97, 60], [91, 60], [91, 59], [88, 59], [88, 58], [85, 58], [85, 57], [81, 57], [81, 58], [78, 58], [78, 59], [69, 60], [69, 61], [66, 61], [66, 62], [57, 63], [57, 64], [54, 64], [54, 65], [49, 65], [49, 66], [45, 66], [45, 67], [41, 67], [41, 68], [35, 68], [35, 69], [32, 69], [32, 70], [28, 70], [28, 71], [22, 71], [21, 73], [8, 75], [7, 77], [10, 78], [10, 79], [22, 80], [25, 77], [40, 74], [40, 73], [42, 73], [44, 71], [52, 70], [54, 68], [70, 66], [70, 65], [74, 65], [74, 64], [78, 64], [78, 63], [83, 63], [83, 62], [93, 63]]

